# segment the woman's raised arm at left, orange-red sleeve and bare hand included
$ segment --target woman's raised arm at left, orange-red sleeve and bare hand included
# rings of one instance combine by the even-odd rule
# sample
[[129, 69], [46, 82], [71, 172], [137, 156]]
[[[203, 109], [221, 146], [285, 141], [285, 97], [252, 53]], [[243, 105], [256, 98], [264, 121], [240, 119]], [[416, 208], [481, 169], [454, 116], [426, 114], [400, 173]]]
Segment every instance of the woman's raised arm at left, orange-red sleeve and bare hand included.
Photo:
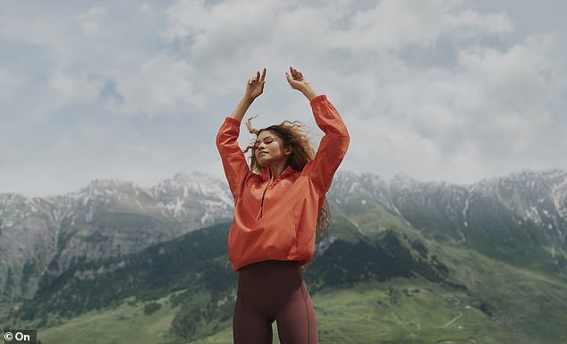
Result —
[[252, 173], [238, 146], [241, 121], [254, 99], [264, 91], [265, 80], [266, 68], [261, 75], [257, 71], [256, 76], [248, 80], [244, 96], [216, 134], [216, 147], [223, 161], [224, 175], [235, 200], [241, 193], [243, 183]]

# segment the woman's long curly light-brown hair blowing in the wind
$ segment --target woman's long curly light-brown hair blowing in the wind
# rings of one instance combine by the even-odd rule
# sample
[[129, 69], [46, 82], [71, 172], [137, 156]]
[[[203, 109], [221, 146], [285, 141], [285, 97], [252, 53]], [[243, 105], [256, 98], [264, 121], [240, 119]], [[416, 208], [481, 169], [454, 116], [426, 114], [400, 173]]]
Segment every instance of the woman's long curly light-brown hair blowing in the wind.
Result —
[[[299, 121], [283, 121], [279, 124], [271, 125], [264, 129], [255, 129], [252, 127], [252, 120], [258, 117], [258, 115], [250, 117], [246, 121], [246, 128], [250, 131], [250, 134], [256, 135], [256, 138], [260, 135], [262, 131], [270, 131], [282, 138], [283, 147], [292, 148], [292, 154], [288, 155], [286, 165], [292, 167], [295, 171], [303, 171], [303, 168], [309, 161], [313, 160], [315, 157], [315, 147], [311, 143], [308, 135], [307, 127]], [[252, 143], [244, 149], [244, 153], [249, 150], [252, 151], [250, 156], [250, 170], [255, 173], [260, 173], [262, 171], [262, 166], [258, 163], [256, 159], [256, 139], [252, 140]], [[323, 206], [317, 214], [317, 238], [325, 235], [329, 223], [331, 222], [331, 212], [329, 210], [329, 204], [326, 198], [323, 202]]]

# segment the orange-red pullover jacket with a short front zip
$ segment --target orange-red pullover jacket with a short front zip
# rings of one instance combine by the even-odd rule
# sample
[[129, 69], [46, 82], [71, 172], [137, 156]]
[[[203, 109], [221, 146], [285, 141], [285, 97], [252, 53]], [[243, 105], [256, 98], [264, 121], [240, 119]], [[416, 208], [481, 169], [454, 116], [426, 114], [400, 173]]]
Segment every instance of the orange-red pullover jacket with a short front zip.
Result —
[[234, 271], [265, 260], [307, 264], [313, 258], [317, 215], [350, 138], [341, 116], [325, 95], [316, 96], [310, 105], [325, 136], [315, 158], [303, 171], [287, 166], [277, 178], [271, 169], [263, 169], [259, 175], [250, 172], [237, 142], [241, 123], [227, 117], [218, 131], [216, 147], [234, 197], [228, 236]]

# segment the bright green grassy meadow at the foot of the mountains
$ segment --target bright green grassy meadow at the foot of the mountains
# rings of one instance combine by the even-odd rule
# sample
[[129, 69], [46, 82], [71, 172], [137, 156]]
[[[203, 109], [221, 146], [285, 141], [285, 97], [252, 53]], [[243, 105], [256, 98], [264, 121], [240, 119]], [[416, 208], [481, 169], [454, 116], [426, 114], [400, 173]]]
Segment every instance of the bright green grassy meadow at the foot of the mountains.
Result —
[[[468, 289], [418, 277], [316, 292], [312, 298], [320, 342], [556, 344], [567, 340], [567, 279], [520, 269], [470, 250], [447, 251], [454, 258], [452, 273]], [[306, 279], [309, 283], [309, 272]], [[43, 344], [232, 342], [230, 319], [217, 323], [214, 335], [199, 340], [173, 336], [171, 324], [180, 306], [172, 306], [171, 300], [179, 295], [145, 302], [129, 299], [114, 308], [58, 319], [54, 326], [39, 329], [38, 337]], [[150, 302], [161, 307], [145, 315]]]

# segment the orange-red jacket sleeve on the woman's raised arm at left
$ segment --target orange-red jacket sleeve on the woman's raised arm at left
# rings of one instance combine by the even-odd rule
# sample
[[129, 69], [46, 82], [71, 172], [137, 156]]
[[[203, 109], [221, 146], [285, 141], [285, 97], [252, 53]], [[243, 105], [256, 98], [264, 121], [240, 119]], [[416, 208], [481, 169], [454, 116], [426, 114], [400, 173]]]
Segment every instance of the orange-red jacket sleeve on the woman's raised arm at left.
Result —
[[228, 181], [234, 200], [241, 194], [244, 182], [248, 179], [250, 168], [246, 163], [246, 157], [238, 146], [241, 122], [226, 117], [224, 123], [216, 134], [216, 148], [223, 161], [224, 175]]

